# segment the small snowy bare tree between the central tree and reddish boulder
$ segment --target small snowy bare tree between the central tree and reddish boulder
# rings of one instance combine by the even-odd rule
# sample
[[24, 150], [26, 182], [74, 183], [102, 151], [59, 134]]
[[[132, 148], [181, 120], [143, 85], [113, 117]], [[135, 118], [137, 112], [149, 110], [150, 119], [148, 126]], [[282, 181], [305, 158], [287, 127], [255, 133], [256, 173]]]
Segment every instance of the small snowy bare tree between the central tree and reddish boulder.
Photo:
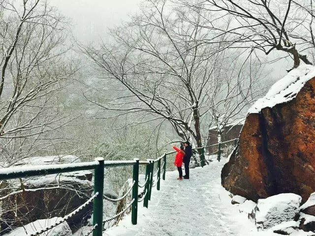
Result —
[[245, 118], [252, 103], [270, 88], [267, 70], [259, 60], [250, 54], [249, 63], [244, 63], [235, 59], [240, 52], [235, 51], [229, 56], [226, 54], [225, 52], [226, 62], [217, 71], [217, 77], [222, 79], [217, 81], [218, 84], [211, 93], [208, 101], [211, 108], [203, 118], [208, 128], [204, 137], [208, 138], [209, 129], [216, 127], [218, 143], [221, 142], [225, 127], [235, 123], [235, 120]]

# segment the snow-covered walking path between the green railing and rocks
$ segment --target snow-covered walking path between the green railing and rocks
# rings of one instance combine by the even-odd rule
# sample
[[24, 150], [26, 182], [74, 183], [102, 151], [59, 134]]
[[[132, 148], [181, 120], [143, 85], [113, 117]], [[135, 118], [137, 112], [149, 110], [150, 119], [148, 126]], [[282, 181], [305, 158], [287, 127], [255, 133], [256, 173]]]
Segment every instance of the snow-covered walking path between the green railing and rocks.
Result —
[[[221, 187], [223, 164], [224, 160], [215, 161], [204, 168], [191, 169], [190, 179], [183, 181], [176, 180], [177, 172], [166, 172], [160, 191], [152, 192], [149, 208], [140, 203], [138, 224], [131, 225], [128, 215], [104, 236], [252, 235], [245, 233], [251, 222], [231, 205], [229, 193]], [[238, 233], [240, 229], [242, 233]]]

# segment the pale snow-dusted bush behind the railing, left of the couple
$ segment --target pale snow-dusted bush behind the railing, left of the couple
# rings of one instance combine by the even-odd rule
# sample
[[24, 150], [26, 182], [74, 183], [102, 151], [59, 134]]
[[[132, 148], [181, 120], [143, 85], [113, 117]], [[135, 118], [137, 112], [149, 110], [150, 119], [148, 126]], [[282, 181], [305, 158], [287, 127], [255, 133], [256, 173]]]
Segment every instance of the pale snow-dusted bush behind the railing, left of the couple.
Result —
[[[162, 135], [161, 135], [162, 136]], [[139, 158], [146, 161], [147, 159], [155, 159], [162, 155], [169, 147], [161, 148], [157, 152], [158, 147], [167, 144], [166, 138], [162, 138], [157, 143], [151, 127], [141, 125], [137, 127], [126, 127], [117, 131], [115, 135], [109, 136], [107, 140], [96, 143], [90, 152], [93, 155], [104, 157], [105, 160], [132, 160]], [[156, 169], [155, 169], [156, 170]], [[140, 174], [145, 173], [145, 167], [140, 166]], [[126, 179], [132, 177], [132, 166], [117, 167], [107, 169], [105, 178], [109, 180], [113, 190], [118, 194], [121, 187], [125, 184]]]

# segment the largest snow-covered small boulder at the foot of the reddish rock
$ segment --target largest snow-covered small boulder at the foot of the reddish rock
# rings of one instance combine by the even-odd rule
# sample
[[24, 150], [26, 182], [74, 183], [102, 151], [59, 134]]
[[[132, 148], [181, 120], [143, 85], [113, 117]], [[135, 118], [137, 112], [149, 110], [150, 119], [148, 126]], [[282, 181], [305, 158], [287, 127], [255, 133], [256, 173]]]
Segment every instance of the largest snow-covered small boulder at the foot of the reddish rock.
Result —
[[293, 193], [282, 193], [266, 199], [259, 199], [254, 208], [257, 229], [269, 229], [282, 222], [296, 220], [301, 201], [301, 196]]

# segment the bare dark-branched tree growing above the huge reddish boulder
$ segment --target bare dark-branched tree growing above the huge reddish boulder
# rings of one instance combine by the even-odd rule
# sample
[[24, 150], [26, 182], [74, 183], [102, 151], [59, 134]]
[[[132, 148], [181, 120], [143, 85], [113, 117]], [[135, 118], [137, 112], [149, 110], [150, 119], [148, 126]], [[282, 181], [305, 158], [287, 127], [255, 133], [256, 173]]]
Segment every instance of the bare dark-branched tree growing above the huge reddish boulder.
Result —
[[[228, 29], [217, 28], [209, 19], [209, 29], [229, 35], [230, 48], [250, 48], [265, 55], [282, 51], [294, 60], [293, 68], [302, 60], [314, 64], [305, 53], [313, 55], [314, 0], [201, 0], [186, 2], [196, 11], [209, 10], [221, 14], [219, 21], [232, 19]], [[313, 51], [313, 53], [312, 53]]]

